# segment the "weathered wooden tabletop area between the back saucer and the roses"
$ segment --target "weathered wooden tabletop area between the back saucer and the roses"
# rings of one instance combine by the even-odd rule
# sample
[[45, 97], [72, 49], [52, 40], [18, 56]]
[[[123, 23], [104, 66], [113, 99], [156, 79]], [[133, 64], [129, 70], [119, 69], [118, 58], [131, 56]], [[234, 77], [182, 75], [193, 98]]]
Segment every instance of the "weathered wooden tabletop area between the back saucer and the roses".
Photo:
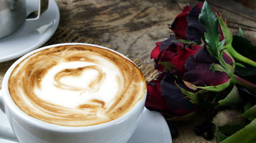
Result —
[[[61, 23], [80, 35], [150, 63], [155, 42], [172, 32], [168, 24], [181, 11], [170, 1], [58, 1]], [[65, 6], [66, 5], [66, 6]], [[76, 7], [76, 8], [74, 8]]]

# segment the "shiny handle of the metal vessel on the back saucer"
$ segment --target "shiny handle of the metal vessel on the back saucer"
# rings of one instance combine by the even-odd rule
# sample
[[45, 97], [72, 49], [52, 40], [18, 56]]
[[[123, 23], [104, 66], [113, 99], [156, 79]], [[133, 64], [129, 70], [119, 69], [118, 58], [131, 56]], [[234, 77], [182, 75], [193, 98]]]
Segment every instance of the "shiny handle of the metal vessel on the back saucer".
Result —
[[36, 20], [39, 19], [40, 15], [48, 9], [49, 0], [39, 0], [38, 11], [31, 12], [26, 20]]

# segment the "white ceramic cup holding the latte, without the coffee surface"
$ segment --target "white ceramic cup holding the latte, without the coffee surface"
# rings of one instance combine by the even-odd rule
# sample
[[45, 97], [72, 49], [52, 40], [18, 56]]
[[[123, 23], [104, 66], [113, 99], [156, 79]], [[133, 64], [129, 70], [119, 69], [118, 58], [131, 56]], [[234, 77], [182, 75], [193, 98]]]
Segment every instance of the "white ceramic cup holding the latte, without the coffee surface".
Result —
[[[132, 109], [126, 112], [123, 116], [110, 122], [85, 127], [60, 126], [43, 122], [27, 115], [25, 112], [20, 110], [12, 100], [8, 91], [9, 76], [20, 62], [22, 62], [29, 55], [43, 49], [76, 44], [109, 49], [98, 45], [84, 43], [63, 43], [50, 45], [36, 49], [24, 55], [8, 69], [3, 79], [2, 91], [0, 91], [0, 107], [3, 112], [5, 112], [15, 135], [12, 132], [7, 132], [9, 130], [7, 127], [0, 126], [0, 138], [13, 141], [17, 141], [18, 138], [18, 140], [22, 143], [125, 143], [130, 139], [142, 115], [146, 99], [146, 90], [143, 98], [139, 100], [132, 107]], [[109, 50], [118, 53], [112, 49]], [[123, 54], [118, 54], [126, 58], [126, 56]]]

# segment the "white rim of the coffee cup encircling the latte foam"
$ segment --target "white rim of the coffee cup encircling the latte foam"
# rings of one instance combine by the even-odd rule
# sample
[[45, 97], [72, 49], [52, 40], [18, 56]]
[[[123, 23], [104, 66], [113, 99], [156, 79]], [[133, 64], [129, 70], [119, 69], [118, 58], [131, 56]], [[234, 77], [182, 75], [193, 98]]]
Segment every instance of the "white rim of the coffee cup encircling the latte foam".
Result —
[[[123, 58], [126, 58], [127, 60], [129, 60], [130, 62], [132, 62], [129, 58], [127, 58], [125, 55], [123, 55], [122, 53], [119, 53], [113, 49], [104, 47], [104, 46], [99, 46], [99, 45], [95, 45], [95, 44], [88, 44], [88, 43], [60, 43], [60, 44], [54, 44], [54, 45], [49, 45], [49, 46], [45, 46], [45, 47], [41, 47], [38, 48], [36, 50], [33, 50], [27, 54], [25, 54], [24, 56], [22, 56], [21, 58], [19, 58], [16, 62], [14, 62], [14, 64], [7, 70], [4, 78], [3, 78], [3, 82], [2, 82], [2, 92], [3, 92], [3, 98], [4, 98], [4, 103], [5, 106], [9, 107], [12, 111], [13, 114], [15, 114], [17, 117], [23, 119], [23, 121], [27, 122], [28, 124], [32, 124], [36, 127], [42, 128], [42, 129], [46, 129], [46, 130], [51, 130], [51, 131], [58, 131], [58, 132], [81, 132], [81, 131], [92, 131], [92, 130], [97, 130], [97, 129], [102, 129], [102, 128], [106, 128], [115, 124], [119, 124], [127, 119], [129, 119], [129, 117], [136, 112], [136, 110], [141, 110], [141, 113], [143, 111], [143, 108], [140, 109], [141, 106], [144, 106], [145, 103], [145, 99], [146, 99], [146, 88], [145, 88], [145, 92], [143, 94], [142, 99], [140, 99], [133, 107], [132, 109], [130, 109], [129, 111], [127, 111], [126, 113], [124, 113], [124, 115], [122, 115], [121, 117], [106, 122], [106, 123], [101, 123], [101, 124], [97, 124], [97, 125], [90, 125], [90, 126], [77, 126], [77, 127], [72, 127], [72, 126], [62, 126], [62, 125], [56, 125], [56, 124], [51, 124], [51, 123], [47, 123], [44, 121], [41, 121], [39, 119], [36, 119], [34, 117], [31, 117], [29, 115], [27, 115], [27, 113], [25, 113], [24, 111], [22, 111], [12, 100], [9, 90], [8, 90], [8, 81], [9, 81], [9, 76], [12, 73], [13, 69], [20, 63], [22, 62], [24, 59], [26, 59], [29, 55], [40, 51], [40, 50], [44, 50], [44, 49], [48, 49], [48, 48], [52, 48], [52, 47], [57, 47], [57, 46], [64, 46], [64, 45], [89, 45], [89, 46], [95, 46], [95, 47], [99, 47], [99, 48], [103, 48], [103, 49], [107, 49], [110, 50], [112, 52], [115, 52], [121, 56], [123, 56]], [[136, 67], [138, 67], [134, 62], [132, 62]], [[145, 83], [146, 84], [146, 83]], [[146, 87], [146, 86], [145, 86]]]

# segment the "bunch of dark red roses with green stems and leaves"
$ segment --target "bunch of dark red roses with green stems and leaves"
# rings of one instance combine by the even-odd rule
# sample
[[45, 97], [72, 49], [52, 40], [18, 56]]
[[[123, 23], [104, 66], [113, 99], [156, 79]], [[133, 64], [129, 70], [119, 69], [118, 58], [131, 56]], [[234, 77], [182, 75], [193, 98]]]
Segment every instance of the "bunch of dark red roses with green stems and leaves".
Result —
[[[255, 142], [256, 47], [241, 28], [233, 36], [207, 2], [186, 6], [169, 28], [175, 36], [157, 42], [151, 53], [161, 73], [147, 82], [145, 106], [167, 120], [204, 113], [215, 124], [217, 142]], [[206, 128], [194, 131], [202, 135]]]

